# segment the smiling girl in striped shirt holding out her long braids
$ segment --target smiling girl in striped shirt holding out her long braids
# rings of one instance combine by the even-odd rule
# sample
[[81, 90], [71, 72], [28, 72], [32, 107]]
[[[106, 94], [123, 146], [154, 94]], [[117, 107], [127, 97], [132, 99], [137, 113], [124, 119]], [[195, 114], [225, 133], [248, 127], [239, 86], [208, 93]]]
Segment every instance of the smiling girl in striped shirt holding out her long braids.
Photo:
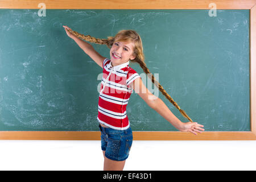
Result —
[[[166, 93], [162, 85], [152, 76], [144, 63], [142, 40], [137, 32], [134, 30], [122, 30], [114, 37], [96, 39], [90, 35], [79, 34], [67, 26], [63, 27], [67, 35], [75, 40], [79, 47], [103, 68], [104, 75], [101, 80], [97, 119], [100, 123], [104, 170], [123, 170], [125, 160], [129, 156], [133, 134], [126, 116], [126, 105], [133, 89], [148, 106], [156, 110], [177, 130], [189, 131], [195, 135], [204, 131], [202, 128], [204, 126], [192, 122], [188, 115]], [[110, 48], [110, 59], [101, 56], [89, 43], [79, 38], [92, 43], [106, 44]], [[152, 82], [158, 86], [163, 95], [191, 122], [183, 123], [175, 117], [164, 102], [155, 97], [144, 86], [138, 73], [128, 66], [130, 61], [138, 63], [143, 71], [147, 73], [147, 76], [151, 78]]]

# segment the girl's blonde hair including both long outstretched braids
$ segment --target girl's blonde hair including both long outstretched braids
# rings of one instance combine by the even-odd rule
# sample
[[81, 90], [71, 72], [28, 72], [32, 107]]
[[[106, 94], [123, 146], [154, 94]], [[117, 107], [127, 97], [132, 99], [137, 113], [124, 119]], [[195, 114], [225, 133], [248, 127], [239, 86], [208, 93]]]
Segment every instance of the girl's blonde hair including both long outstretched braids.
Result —
[[188, 115], [185, 113], [184, 110], [180, 109], [180, 106], [177, 105], [177, 103], [171, 98], [171, 96], [166, 92], [166, 90], [163, 89], [163, 86], [159, 84], [158, 81], [155, 80], [155, 77], [150, 73], [149, 69], [146, 66], [146, 63], [144, 62], [144, 54], [143, 54], [143, 47], [142, 47], [142, 40], [141, 36], [134, 31], [134, 30], [121, 30], [117, 33], [117, 35], [108, 36], [108, 39], [97, 39], [90, 35], [82, 35], [79, 34], [76, 31], [68, 30], [78, 38], [84, 39], [88, 42], [95, 43], [95, 44], [105, 44], [108, 46], [108, 48], [111, 48], [114, 42], [120, 41], [120, 42], [133, 42], [134, 43], [134, 50], [133, 53], [136, 56], [135, 59], [130, 60], [131, 63], [138, 63], [141, 68], [143, 69], [143, 72], [147, 74], [148, 77], [151, 78], [151, 81], [158, 87], [160, 92], [164, 95], [164, 97], [167, 98], [168, 101], [170, 101], [179, 111], [180, 113], [187, 118], [189, 121], [193, 122], [191, 118], [188, 117]]

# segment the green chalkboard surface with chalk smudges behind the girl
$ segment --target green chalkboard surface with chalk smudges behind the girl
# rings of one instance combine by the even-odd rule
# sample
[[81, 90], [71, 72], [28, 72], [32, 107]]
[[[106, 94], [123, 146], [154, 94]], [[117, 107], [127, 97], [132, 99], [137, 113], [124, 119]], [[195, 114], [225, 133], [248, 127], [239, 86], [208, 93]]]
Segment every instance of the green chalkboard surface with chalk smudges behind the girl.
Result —
[[[249, 10], [208, 11], [46, 10], [40, 17], [38, 10], [1, 9], [0, 131], [98, 131], [102, 68], [63, 25], [104, 39], [137, 31], [148, 69], [193, 121], [205, 131], [250, 131]], [[108, 47], [92, 45], [109, 58]], [[177, 131], [135, 93], [127, 116], [133, 131]]]

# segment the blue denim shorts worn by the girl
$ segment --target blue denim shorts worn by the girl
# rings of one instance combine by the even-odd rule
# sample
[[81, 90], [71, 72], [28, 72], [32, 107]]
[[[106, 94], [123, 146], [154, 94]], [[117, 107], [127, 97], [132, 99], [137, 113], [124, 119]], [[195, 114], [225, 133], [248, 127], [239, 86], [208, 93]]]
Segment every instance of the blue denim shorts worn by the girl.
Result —
[[126, 130], [115, 130], [101, 125], [98, 127], [101, 131], [101, 150], [105, 151], [106, 158], [118, 161], [127, 159], [133, 143], [131, 127]]

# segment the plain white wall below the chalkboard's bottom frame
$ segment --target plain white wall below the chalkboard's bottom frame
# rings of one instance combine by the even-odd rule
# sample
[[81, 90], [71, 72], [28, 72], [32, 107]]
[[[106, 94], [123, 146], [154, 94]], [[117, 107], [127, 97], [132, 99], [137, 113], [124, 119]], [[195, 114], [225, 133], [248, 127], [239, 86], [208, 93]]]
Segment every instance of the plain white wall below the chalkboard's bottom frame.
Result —
[[[102, 170], [100, 140], [0, 140], [0, 170]], [[256, 170], [256, 141], [134, 140], [124, 170]]]

